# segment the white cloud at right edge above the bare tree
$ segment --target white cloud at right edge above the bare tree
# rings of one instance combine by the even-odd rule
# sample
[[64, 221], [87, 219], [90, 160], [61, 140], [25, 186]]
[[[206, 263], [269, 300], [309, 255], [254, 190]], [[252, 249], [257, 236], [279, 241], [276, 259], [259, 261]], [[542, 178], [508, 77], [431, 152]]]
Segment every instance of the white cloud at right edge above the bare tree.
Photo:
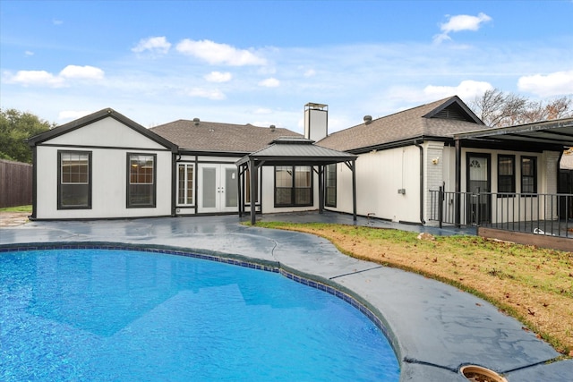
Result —
[[573, 70], [523, 76], [517, 80], [517, 88], [539, 97], [573, 94]]

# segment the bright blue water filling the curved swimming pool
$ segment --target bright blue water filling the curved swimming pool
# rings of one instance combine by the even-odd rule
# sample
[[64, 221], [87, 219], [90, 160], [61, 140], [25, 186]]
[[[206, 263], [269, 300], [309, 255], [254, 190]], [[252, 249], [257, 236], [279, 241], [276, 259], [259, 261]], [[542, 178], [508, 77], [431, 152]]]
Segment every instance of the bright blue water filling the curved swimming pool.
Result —
[[277, 273], [130, 250], [0, 253], [3, 381], [398, 381], [381, 331]]

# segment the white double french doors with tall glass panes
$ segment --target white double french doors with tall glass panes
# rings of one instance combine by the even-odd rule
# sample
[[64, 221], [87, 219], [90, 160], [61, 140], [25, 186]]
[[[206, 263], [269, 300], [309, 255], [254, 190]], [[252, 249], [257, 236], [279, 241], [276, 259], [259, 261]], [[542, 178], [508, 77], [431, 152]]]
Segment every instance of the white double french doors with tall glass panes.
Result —
[[235, 165], [199, 165], [199, 213], [238, 211], [238, 170]]

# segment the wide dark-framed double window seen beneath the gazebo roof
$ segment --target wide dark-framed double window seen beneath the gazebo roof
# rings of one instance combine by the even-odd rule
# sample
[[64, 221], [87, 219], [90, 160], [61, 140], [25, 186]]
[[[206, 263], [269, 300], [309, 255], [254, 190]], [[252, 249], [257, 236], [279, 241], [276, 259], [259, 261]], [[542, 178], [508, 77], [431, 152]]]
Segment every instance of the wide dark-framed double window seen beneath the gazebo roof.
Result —
[[275, 167], [275, 207], [312, 206], [312, 167]]

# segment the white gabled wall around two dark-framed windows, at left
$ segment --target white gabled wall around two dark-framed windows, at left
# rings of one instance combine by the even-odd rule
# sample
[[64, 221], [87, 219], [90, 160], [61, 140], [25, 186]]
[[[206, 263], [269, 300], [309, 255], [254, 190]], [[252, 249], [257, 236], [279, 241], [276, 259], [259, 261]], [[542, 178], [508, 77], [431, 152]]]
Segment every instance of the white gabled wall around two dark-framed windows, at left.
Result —
[[[91, 151], [90, 209], [57, 209], [58, 149]], [[38, 219], [171, 215], [171, 152], [113, 118], [47, 140], [36, 150]], [[129, 152], [157, 154], [155, 208], [126, 208]]]

